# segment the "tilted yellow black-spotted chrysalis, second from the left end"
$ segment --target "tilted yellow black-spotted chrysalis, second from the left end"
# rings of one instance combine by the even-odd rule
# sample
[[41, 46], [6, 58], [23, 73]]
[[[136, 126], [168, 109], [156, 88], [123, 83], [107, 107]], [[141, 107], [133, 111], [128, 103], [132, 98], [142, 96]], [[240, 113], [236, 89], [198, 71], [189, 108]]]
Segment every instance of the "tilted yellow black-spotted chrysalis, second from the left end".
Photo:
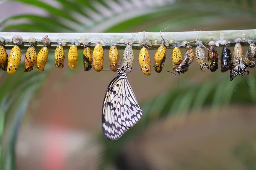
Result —
[[11, 48], [10, 55], [8, 57], [7, 73], [13, 74], [16, 72], [19, 63], [21, 62], [21, 50], [18, 45]]

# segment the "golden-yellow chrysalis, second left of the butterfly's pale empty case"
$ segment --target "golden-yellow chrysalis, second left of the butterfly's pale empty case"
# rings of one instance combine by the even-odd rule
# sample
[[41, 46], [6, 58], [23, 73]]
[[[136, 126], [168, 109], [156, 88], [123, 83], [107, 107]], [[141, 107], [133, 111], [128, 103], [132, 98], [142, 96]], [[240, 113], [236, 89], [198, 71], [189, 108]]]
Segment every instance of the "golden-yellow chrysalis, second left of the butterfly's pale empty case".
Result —
[[94, 47], [92, 60], [95, 71], [101, 71], [103, 69], [104, 51], [100, 43], [97, 43]]

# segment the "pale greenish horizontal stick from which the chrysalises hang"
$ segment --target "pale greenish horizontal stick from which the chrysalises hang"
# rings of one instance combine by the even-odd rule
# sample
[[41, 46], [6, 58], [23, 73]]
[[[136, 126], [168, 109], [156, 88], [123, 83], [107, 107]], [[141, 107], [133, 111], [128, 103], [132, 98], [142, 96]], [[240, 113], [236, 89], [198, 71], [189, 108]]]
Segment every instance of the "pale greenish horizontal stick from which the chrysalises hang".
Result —
[[[251, 30], [220, 30], [220, 31], [187, 31], [187, 32], [162, 32], [162, 37], [169, 41], [168, 48], [172, 48], [173, 42], [183, 42], [195, 40], [198, 38], [205, 45], [209, 41], [228, 40], [231, 44], [235, 43], [236, 38], [241, 38], [242, 43], [247, 43], [247, 40], [256, 40], [256, 29]], [[133, 48], [140, 49], [141, 42], [147, 40], [147, 46], [149, 49], [157, 48], [162, 41], [159, 32], [137, 32], [137, 33], [39, 33], [39, 32], [0, 32], [0, 37], [5, 39], [6, 49], [13, 47], [12, 38], [15, 35], [19, 35], [23, 38], [23, 44], [20, 45], [21, 49], [27, 49], [29, 47], [28, 38], [33, 37], [36, 39], [36, 48], [40, 49], [43, 44], [41, 42], [45, 35], [50, 38], [51, 45], [49, 49], [55, 49], [58, 45], [57, 40], [63, 39], [66, 41], [65, 49], [71, 45], [72, 39], [78, 40], [80, 43], [81, 38], [86, 38], [92, 43], [88, 46], [93, 47], [97, 41], [104, 42], [103, 46], [107, 47], [112, 44], [116, 44], [119, 49], [123, 49], [126, 46], [126, 40], [131, 39], [134, 41]], [[193, 44], [192, 44], [193, 45]], [[83, 49], [83, 44], [78, 45], [79, 49]]]

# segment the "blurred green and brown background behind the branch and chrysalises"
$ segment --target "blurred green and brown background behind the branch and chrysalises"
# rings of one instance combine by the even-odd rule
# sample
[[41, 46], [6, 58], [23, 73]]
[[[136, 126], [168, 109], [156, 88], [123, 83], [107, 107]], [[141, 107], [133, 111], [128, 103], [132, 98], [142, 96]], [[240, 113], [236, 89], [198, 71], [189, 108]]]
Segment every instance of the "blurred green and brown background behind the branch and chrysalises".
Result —
[[[255, 29], [255, 9], [254, 0], [2, 0], [0, 30]], [[217, 48], [219, 55], [221, 50]], [[150, 50], [151, 64], [155, 51]], [[202, 72], [195, 62], [178, 85], [178, 77], [167, 73], [172, 70], [171, 49], [161, 74], [152, 69], [150, 76], [141, 73], [139, 51], [134, 50], [128, 79], [143, 119], [120, 140], [108, 141], [101, 130], [101, 109], [117, 74], [84, 72], [82, 51], [77, 69], [68, 68], [67, 58], [65, 67], [57, 69], [53, 52], [44, 72], [24, 73], [23, 62], [13, 75], [0, 72], [0, 169], [256, 169], [255, 68], [245, 76], [251, 90], [240, 79], [234, 93], [238, 77], [230, 82], [229, 72]], [[108, 50], [104, 52], [107, 69]]]

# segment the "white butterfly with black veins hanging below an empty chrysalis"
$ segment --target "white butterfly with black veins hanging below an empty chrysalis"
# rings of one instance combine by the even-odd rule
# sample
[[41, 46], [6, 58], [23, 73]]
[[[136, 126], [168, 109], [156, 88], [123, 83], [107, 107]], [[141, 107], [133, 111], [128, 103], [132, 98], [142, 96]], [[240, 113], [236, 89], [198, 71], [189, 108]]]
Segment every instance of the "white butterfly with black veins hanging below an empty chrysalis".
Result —
[[[129, 72], [128, 72], [129, 73]], [[117, 69], [102, 106], [102, 130], [108, 140], [117, 140], [142, 117], [142, 110], [123, 67]]]

